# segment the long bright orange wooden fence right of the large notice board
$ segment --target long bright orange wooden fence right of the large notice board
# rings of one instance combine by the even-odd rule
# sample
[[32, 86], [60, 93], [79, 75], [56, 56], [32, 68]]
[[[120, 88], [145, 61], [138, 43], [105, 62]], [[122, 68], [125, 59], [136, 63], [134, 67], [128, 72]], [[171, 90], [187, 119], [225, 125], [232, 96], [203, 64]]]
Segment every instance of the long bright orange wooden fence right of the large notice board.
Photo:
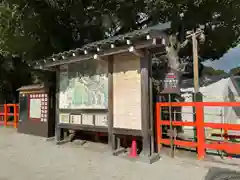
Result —
[[[163, 120], [161, 118], [162, 107], [183, 107], [190, 106], [195, 107], [196, 121], [184, 122], [172, 120]], [[229, 154], [240, 154], [240, 144], [233, 142], [213, 142], [209, 143], [205, 139], [205, 128], [222, 129], [226, 133], [229, 130], [240, 132], [240, 124], [227, 124], [227, 123], [205, 123], [204, 122], [204, 107], [206, 106], [240, 106], [240, 102], [159, 102], [156, 103], [156, 130], [157, 130], [157, 145], [158, 152], [160, 152], [162, 144], [171, 145], [173, 143], [179, 147], [196, 148], [198, 159], [203, 159], [206, 155], [206, 149], [225, 151]], [[162, 126], [193, 126], [196, 127], [196, 141], [187, 140], [170, 140], [169, 138], [163, 138]], [[226, 136], [225, 136], [226, 137]]]

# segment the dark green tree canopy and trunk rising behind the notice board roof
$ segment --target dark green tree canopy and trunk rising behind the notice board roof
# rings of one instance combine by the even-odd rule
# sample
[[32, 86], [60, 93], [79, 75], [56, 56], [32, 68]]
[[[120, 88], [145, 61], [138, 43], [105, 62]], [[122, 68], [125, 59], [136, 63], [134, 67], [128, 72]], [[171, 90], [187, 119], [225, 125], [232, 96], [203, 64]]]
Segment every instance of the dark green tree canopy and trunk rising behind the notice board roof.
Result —
[[7, 62], [14, 57], [29, 62], [172, 21], [167, 58], [179, 69], [183, 60], [192, 61], [191, 40], [183, 48], [180, 44], [199, 25], [206, 34], [199, 45], [203, 61], [218, 59], [238, 44], [239, 10], [239, 0], [1, 0], [0, 54]]

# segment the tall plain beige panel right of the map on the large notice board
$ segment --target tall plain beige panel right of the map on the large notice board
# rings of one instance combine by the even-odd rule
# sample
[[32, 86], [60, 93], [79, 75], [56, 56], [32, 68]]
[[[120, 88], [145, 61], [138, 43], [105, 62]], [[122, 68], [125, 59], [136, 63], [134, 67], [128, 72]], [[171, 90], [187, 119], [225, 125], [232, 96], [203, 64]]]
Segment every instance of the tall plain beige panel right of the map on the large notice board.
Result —
[[140, 58], [120, 54], [113, 62], [113, 128], [142, 130]]

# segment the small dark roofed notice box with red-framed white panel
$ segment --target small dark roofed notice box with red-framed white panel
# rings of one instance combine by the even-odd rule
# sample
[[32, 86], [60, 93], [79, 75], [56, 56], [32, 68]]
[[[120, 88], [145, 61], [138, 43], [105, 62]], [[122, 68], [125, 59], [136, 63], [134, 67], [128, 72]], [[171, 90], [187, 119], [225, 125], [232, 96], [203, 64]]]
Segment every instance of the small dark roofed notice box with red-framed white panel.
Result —
[[42, 137], [55, 135], [53, 96], [42, 84], [23, 86], [19, 91], [18, 132]]

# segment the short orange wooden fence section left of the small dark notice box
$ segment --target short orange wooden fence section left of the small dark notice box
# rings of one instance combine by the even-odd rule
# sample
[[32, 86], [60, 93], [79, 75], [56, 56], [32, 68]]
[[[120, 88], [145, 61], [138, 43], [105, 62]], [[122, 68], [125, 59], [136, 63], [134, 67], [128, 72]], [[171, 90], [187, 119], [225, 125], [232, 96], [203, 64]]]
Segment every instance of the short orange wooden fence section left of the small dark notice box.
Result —
[[[13, 112], [10, 111], [11, 107]], [[17, 128], [19, 117], [18, 104], [3, 104], [0, 105], [0, 125], [13, 126]], [[9, 121], [8, 118], [13, 116], [13, 121]]]

